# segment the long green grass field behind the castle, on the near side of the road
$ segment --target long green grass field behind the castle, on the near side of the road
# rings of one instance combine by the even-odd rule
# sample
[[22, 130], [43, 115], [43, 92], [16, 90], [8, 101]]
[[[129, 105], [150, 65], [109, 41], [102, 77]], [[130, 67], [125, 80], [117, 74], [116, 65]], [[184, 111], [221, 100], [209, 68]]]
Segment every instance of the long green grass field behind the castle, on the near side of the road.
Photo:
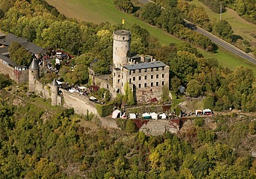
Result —
[[[163, 32], [152, 25], [138, 20], [132, 14], [125, 14], [120, 12], [113, 6], [112, 0], [46, 0], [52, 6], [55, 6], [61, 14], [66, 17], [75, 18], [78, 21], [91, 21], [93, 23], [101, 23], [109, 21], [109, 23], [122, 23], [125, 19], [125, 26], [131, 27], [132, 24], [137, 23], [142, 28], [146, 28], [152, 36], [155, 36], [160, 43], [168, 45], [170, 43], [183, 43], [183, 41], [176, 39], [174, 36]], [[196, 0], [198, 3], [199, 1]], [[193, 2], [196, 2], [193, 1]], [[224, 16], [224, 14], [223, 14]], [[224, 17], [223, 17], [224, 18]], [[212, 54], [200, 50], [205, 57], [214, 57], [224, 67], [229, 67], [234, 70], [235, 67], [244, 65], [254, 70], [256, 76], [256, 65], [253, 65], [239, 56], [219, 48], [218, 53]]]

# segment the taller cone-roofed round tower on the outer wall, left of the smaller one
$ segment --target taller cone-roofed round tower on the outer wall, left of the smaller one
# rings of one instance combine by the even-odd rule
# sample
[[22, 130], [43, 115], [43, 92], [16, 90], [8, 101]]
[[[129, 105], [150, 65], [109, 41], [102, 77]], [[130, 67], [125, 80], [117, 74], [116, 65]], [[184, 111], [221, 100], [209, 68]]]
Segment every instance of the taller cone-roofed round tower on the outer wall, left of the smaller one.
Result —
[[36, 81], [39, 78], [39, 65], [33, 59], [32, 63], [28, 67], [28, 90], [30, 92], [35, 91]]

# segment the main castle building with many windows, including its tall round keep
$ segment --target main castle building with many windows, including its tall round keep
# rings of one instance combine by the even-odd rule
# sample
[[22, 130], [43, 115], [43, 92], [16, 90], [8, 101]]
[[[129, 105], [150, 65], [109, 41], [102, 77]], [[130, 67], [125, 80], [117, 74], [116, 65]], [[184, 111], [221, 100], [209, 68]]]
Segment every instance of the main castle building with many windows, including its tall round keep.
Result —
[[169, 89], [168, 65], [156, 61], [153, 56], [130, 56], [131, 32], [116, 30], [113, 32], [113, 68], [111, 80], [104, 76], [93, 76], [96, 85], [109, 89], [112, 96], [125, 94], [125, 83], [129, 84], [137, 102], [161, 100], [163, 87]]

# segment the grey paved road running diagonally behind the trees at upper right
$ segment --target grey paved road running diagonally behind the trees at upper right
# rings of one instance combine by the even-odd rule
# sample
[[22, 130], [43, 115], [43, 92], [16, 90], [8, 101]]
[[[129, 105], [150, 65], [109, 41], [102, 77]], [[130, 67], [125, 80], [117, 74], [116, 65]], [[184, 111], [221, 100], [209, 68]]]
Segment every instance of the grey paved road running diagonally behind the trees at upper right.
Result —
[[[138, 0], [138, 1], [140, 1], [142, 3], [149, 3], [149, 2], [154, 3], [151, 0]], [[188, 21], [186, 19], [184, 19], [184, 21], [185, 21], [185, 23], [187, 23], [188, 28], [190, 28], [191, 30], [195, 30], [196, 32], [199, 32], [200, 34], [208, 36], [209, 39], [211, 39], [217, 45], [221, 45], [223, 48], [226, 48], [230, 52], [237, 54], [238, 56], [241, 56], [241, 58], [246, 59], [247, 61], [250, 61], [251, 63], [256, 65], [256, 59], [254, 59], [252, 56], [246, 54], [246, 52], [239, 50], [239, 48], [236, 48], [234, 45], [231, 45], [230, 43], [223, 41], [219, 37], [214, 36], [214, 34], [211, 34], [210, 32], [207, 32], [206, 30], [199, 28], [198, 26], [192, 24], [190, 21]]]

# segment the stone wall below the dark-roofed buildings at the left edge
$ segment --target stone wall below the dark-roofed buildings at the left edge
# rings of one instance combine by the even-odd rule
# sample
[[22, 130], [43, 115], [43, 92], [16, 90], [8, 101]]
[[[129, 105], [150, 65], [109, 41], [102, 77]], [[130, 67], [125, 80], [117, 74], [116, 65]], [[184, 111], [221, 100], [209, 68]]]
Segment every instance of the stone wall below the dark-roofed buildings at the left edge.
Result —
[[15, 70], [14, 67], [4, 64], [2, 59], [0, 59], [0, 72], [8, 74], [18, 84], [28, 82], [28, 70]]

